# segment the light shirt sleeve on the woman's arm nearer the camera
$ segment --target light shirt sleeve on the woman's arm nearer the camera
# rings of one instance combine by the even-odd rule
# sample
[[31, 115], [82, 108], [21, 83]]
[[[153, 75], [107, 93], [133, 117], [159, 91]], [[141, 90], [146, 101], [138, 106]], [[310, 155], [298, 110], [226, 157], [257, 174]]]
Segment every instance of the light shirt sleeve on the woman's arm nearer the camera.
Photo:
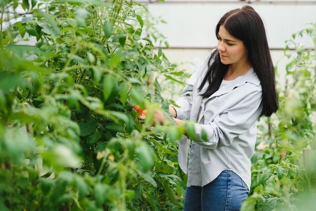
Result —
[[[231, 94], [238, 95], [238, 88]], [[232, 107], [216, 116], [214, 121], [209, 124], [194, 123], [194, 130], [197, 137], [197, 140], [194, 141], [197, 144], [209, 149], [229, 146], [237, 136], [249, 130], [261, 114], [262, 92], [259, 89], [255, 89], [246, 95], [241, 95], [244, 97], [240, 98]]]

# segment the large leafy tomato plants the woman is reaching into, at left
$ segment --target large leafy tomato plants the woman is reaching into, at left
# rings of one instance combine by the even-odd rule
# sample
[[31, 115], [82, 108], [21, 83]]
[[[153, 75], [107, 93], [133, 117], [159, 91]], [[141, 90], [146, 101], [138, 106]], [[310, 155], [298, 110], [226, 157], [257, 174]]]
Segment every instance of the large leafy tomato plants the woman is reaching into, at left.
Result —
[[173, 102], [154, 75], [179, 75], [153, 46], [163, 36], [146, 8], [99, 0], [0, 7], [0, 209], [181, 209], [177, 144], [133, 109], [167, 111]]

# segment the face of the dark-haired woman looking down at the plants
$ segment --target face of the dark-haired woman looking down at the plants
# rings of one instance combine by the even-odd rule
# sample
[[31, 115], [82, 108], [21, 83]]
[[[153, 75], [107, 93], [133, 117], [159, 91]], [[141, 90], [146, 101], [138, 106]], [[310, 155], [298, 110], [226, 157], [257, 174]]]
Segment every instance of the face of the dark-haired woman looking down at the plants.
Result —
[[221, 62], [224, 65], [248, 63], [248, 53], [243, 41], [233, 37], [224, 26], [220, 26], [219, 50]]

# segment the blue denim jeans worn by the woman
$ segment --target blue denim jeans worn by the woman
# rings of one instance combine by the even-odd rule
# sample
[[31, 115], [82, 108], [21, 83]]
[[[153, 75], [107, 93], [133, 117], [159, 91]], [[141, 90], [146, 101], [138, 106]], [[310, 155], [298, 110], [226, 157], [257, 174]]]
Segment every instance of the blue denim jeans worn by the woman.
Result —
[[240, 210], [249, 189], [234, 172], [225, 170], [207, 185], [186, 188], [183, 211]]

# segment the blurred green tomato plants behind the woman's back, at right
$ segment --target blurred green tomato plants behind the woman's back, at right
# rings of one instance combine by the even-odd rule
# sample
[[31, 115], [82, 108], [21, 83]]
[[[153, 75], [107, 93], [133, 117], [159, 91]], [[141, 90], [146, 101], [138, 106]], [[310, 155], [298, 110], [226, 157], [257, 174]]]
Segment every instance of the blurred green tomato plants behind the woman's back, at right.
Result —
[[259, 128], [258, 143], [265, 146], [252, 157], [251, 192], [243, 210], [314, 209], [316, 55], [296, 41], [302, 36], [316, 47], [316, 24], [286, 41], [287, 82], [278, 90], [279, 111]]

